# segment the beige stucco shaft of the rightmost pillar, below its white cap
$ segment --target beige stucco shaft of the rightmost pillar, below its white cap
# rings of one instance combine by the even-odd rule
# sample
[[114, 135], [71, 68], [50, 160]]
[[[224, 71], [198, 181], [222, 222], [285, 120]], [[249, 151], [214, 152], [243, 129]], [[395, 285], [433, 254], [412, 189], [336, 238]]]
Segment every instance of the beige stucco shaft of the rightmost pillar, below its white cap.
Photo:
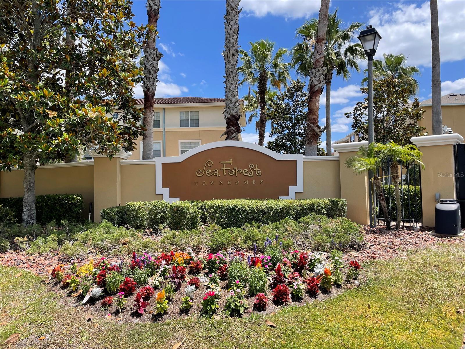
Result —
[[425, 170], [421, 172], [423, 225], [434, 227], [435, 194], [456, 199], [453, 145], [420, 147]]

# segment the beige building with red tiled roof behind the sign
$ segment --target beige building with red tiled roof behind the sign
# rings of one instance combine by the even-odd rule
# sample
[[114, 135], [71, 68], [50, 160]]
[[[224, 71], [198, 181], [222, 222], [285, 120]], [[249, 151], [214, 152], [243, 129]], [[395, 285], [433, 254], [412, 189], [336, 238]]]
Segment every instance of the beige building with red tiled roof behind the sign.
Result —
[[[239, 101], [241, 126], [246, 126], [244, 101]], [[136, 99], [143, 108], [144, 100]], [[170, 97], [155, 98], [153, 109], [153, 157], [179, 156], [199, 145], [224, 141], [226, 124], [224, 98]], [[242, 141], [240, 134], [239, 140]], [[142, 137], [128, 160], [142, 159]]]

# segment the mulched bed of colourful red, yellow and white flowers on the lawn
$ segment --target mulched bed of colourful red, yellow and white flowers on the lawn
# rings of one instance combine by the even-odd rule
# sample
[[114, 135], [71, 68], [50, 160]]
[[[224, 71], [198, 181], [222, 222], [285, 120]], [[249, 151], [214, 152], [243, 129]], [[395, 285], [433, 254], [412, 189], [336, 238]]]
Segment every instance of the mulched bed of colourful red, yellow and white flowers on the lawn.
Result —
[[179, 316], [243, 316], [270, 313], [288, 304], [305, 304], [353, 287], [356, 261], [344, 265], [342, 253], [282, 250], [259, 255], [230, 250], [196, 255], [186, 251], [133, 253], [129, 260], [102, 257], [67, 270], [56, 266], [52, 287], [97, 315], [127, 321]]

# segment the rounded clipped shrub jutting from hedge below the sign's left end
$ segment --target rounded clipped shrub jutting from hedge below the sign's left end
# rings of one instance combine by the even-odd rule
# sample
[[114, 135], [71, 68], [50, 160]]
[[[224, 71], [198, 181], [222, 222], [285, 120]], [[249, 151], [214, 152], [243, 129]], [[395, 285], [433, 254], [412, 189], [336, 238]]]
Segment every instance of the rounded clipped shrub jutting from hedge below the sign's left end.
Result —
[[196, 229], [200, 225], [199, 210], [189, 201], [173, 202], [169, 205], [166, 223], [173, 230]]

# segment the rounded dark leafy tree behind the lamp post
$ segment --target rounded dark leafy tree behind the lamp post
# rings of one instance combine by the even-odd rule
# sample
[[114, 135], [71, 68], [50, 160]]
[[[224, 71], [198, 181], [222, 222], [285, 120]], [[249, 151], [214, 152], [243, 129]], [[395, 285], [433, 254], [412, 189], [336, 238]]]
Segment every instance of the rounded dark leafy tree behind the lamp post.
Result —
[[[360, 134], [360, 141], [367, 140], [368, 134], [368, 88], [362, 87], [365, 100], [357, 102], [352, 112], [345, 113], [352, 118], [352, 129]], [[410, 144], [410, 138], [425, 133], [418, 125], [423, 118], [423, 109], [419, 109], [417, 98], [409, 102], [410, 90], [398, 80], [381, 79], [373, 81], [373, 117], [374, 141], [387, 143], [393, 141], [399, 145]]]

